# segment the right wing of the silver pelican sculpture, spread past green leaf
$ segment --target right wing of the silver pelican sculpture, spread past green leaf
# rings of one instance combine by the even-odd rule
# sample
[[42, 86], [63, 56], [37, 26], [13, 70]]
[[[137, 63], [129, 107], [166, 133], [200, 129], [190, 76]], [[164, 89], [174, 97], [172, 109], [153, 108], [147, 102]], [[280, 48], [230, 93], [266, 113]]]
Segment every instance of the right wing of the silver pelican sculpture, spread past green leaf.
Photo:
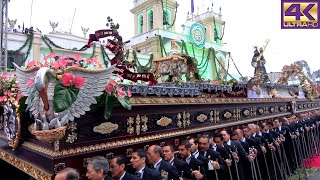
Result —
[[67, 68], [66, 73], [71, 73], [73, 76], [81, 76], [85, 78], [83, 86], [80, 88], [76, 101], [65, 111], [59, 113], [61, 117], [60, 123], [63, 126], [74, 118], [79, 118], [86, 111], [90, 111], [90, 106], [96, 104], [95, 97], [103, 94], [103, 90], [109, 82], [115, 66], [104, 70], [84, 70], [76, 67]]

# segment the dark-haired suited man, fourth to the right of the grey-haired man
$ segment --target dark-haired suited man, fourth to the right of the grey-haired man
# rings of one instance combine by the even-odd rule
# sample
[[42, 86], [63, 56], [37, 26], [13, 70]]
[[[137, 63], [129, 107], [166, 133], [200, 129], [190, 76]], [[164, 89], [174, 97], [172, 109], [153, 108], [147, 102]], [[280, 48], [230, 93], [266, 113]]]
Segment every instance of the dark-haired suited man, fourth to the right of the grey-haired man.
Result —
[[188, 163], [174, 156], [174, 147], [172, 144], [164, 144], [164, 146], [162, 146], [162, 150], [163, 159], [167, 161], [170, 165], [173, 165], [177, 168], [180, 177], [183, 176], [183, 173], [189, 171]]

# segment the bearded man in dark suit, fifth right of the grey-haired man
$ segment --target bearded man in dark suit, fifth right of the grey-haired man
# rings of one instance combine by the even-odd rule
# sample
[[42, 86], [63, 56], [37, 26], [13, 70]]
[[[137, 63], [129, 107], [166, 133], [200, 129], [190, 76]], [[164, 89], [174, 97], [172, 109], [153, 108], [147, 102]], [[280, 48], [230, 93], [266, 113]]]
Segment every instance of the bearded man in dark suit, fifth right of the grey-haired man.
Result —
[[183, 178], [187, 179], [201, 179], [205, 180], [205, 169], [204, 163], [198, 159], [196, 159], [193, 155], [191, 155], [191, 144], [188, 140], [184, 140], [178, 147], [179, 156], [183, 161], [186, 161], [188, 164], [189, 171], [183, 173]]

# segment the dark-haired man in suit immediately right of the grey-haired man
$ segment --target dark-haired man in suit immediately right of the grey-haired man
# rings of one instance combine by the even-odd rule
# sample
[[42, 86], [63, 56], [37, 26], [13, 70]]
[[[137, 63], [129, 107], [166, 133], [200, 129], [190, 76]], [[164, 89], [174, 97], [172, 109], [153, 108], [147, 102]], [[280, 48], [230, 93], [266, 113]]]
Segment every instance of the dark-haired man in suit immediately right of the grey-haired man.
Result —
[[111, 176], [116, 180], [139, 180], [140, 178], [125, 170], [126, 164], [126, 157], [123, 155], [112, 158], [110, 161]]

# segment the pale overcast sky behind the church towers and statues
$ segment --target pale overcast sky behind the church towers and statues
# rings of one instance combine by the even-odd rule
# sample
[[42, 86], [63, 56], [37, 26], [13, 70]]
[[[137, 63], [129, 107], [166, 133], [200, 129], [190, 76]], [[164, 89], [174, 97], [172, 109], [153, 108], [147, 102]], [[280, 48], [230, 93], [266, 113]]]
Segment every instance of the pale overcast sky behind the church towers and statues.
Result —
[[[281, 29], [280, 0], [194, 0], [195, 11], [200, 12], [213, 2], [214, 10], [222, 7], [223, 19], [226, 21], [223, 41], [231, 52], [233, 59], [243, 75], [251, 76], [251, 58], [253, 46], [261, 46], [269, 38], [265, 51], [268, 72], [281, 71], [286, 64], [297, 60], [306, 60], [312, 71], [320, 69], [320, 30]], [[8, 17], [18, 19], [17, 24], [24, 22], [30, 25], [32, 0], [11, 0]], [[165, 0], [164, 0], [165, 2]], [[190, 11], [190, 0], [177, 0], [179, 3], [176, 21], [177, 31]], [[111, 16], [120, 24], [120, 34], [124, 40], [133, 36], [133, 15], [130, 9], [133, 0], [33, 0], [31, 24], [42, 32], [51, 31], [49, 20], [59, 22], [56, 30], [69, 31], [75, 12], [72, 27], [73, 34], [82, 36], [81, 26], [89, 27], [89, 33], [105, 28], [107, 17]], [[233, 72], [236, 72], [232, 68]]]

